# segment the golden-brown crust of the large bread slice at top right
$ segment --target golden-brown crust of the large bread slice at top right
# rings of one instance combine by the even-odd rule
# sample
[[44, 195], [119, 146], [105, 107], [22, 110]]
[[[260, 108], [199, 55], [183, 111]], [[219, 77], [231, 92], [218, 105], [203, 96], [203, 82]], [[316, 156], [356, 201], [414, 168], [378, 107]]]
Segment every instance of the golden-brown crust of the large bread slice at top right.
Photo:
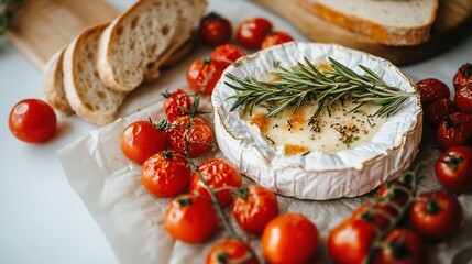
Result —
[[299, 3], [309, 9], [317, 16], [334, 23], [349, 31], [360, 33], [372, 40], [387, 46], [414, 46], [425, 43], [429, 40], [431, 26], [436, 20], [438, 1], [435, 1], [435, 8], [427, 23], [420, 26], [387, 26], [374, 21], [360, 18], [353, 14], [345, 14], [326, 7], [316, 1], [299, 0]]

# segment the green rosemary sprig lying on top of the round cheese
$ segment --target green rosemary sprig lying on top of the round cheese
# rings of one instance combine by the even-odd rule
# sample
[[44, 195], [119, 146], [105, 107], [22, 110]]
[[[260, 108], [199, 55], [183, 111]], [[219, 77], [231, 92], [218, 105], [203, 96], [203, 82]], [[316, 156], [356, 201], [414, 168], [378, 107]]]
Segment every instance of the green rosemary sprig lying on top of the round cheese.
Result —
[[305, 64], [298, 63], [292, 68], [279, 67], [281, 72], [274, 72], [274, 81], [261, 81], [254, 77], [239, 78], [232, 74], [226, 76], [238, 85], [224, 81], [224, 84], [239, 91], [228, 99], [235, 99], [231, 107], [234, 111], [239, 106], [245, 103], [250, 111], [254, 106], [267, 108], [267, 117], [292, 107], [297, 110], [303, 103], [315, 100], [318, 108], [314, 118], [321, 110], [329, 108], [337, 101], [351, 98], [358, 110], [366, 102], [380, 106], [372, 116], [387, 117], [396, 112], [408, 97], [415, 94], [405, 92], [397, 87], [386, 84], [372, 69], [359, 65], [364, 72], [360, 75], [333, 58], [330, 68], [311, 64], [305, 57]]

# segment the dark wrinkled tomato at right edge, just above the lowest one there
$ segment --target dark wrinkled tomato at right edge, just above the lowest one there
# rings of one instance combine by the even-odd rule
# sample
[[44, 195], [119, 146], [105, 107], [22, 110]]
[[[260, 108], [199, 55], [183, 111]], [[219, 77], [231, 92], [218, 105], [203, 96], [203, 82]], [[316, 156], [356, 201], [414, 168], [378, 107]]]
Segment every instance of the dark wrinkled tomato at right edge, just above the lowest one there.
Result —
[[436, 131], [436, 141], [442, 151], [452, 146], [472, 144], [472, 122], [465, 113], [451, 113], [446, 116]]

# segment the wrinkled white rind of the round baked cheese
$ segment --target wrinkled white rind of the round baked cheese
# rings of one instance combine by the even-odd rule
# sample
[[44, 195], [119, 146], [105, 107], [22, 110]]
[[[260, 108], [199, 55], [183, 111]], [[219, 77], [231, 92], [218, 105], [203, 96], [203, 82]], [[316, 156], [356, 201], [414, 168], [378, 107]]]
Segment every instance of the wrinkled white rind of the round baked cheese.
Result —
[[[332, 57], [358, 73], [362, 73], [358, 66], [361, 64], [387, 84], [416, 92], [409, 78], [389, 62], [332, 44], [292, 42], [274, 46], [240, 58], [224, 74], [261, 78], [277, 64], [290, 67], [303, 62], [304, 56], [315, 63]], [[422, 112], [416, 96], [388, 117], [366, 144], [331, 154], [286, 156], [240, 118], [242, 109], [230, 112], [233, 100], [227, 98], [237, 91], [224, 85], [233, 82], [224, 74], [212, 94], [218, 145], [241, 173], [281, 195], [316, 200], [360, 196], [406, 170], [418, 153]]]

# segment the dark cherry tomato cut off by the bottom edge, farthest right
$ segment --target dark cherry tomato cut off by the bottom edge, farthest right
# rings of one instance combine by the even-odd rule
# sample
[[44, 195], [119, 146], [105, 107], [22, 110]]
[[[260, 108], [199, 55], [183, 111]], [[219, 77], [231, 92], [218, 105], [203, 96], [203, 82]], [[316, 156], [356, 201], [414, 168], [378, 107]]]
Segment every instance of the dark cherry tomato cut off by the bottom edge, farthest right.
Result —
[[408, 229], [395, 229], [384, 240], [373, 257], [373, 264], [428, 263], [428, 246]]

